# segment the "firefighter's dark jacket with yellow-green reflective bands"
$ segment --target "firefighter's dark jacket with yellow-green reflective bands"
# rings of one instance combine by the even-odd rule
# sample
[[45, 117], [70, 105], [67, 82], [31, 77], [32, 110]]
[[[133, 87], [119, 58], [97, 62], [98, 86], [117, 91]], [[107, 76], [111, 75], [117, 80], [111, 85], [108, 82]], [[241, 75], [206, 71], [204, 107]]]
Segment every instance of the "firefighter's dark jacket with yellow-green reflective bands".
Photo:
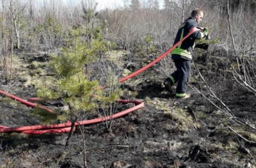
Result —
[[[174, 44], [183, 39], [183, 37], [185, 37], [188, 34], [188, 32], [194, 27], [198, 27], [198, 23], [196, 22], [195, 19], [190, 17], [187, 20], [185, 20], [184, 23], [182, 23], [182, 25], [178, 29], [178, 33], [174, 40]], [[186, 38], [182, 43], [180, 43], [180, 45], [178, 45], [178, 47], [176, 47], [172, 51], [172, 59], [183, 58], [186, 60], [192, 60], [191, 51], [194, 49], [195, 46], [194, 41], [196, 39], [201, 38], [202, 35], [200, 31], [195, 31], [194, 33], [192, 33], [188, 38]]]

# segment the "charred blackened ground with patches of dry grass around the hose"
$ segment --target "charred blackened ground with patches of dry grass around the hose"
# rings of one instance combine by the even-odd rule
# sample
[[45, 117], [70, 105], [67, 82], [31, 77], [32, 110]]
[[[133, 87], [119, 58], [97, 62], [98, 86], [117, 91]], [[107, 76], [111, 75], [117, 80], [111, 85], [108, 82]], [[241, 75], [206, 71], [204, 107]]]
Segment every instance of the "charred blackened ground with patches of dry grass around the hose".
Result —
[[[20, 53], [24, 63], [28, 56]], [[36, 57], [38, 59], [38, 57]], [[30, 58], [31, 59], [31, 58]], [[221, 63], [208, 62], [197, 57], [195, 62], [203, 74], [213, 82], [216, 91]], [[47, 61], [47, 60], [41, 60]], [[140, 59], [136, 67], [146, 65]], [[212, 73], [207, 73], [206, 64], [211, 64]], [[81, 128], [86, 138], [86, 160], [89, 168], [246, 168], [255, 165], [256, 144], [244, 141], [227, 125], [249, 141], [256, 141], [255, 132], [226, 117], [192, 88], [188, 100], [175, 100], [162, 87], [164, 76], [161, 64], [156, 64], [142, 74], [120, 84], [121, 88], [138, 92], [136, 99], [145, 107], [124, 117], [115, 119], [111, 131], [106, 123]], [[136, 68], [135, 69], [138, 69]], [[31, 68], [23, 66], [23, 68]], [[135, 71], [135, 70], [134, 70]], [[18, 73], [18, 72], [17, 72]], [[170, 73], [170, 72], [168, 72]], [[212, 75], [212, 76], [211, 76]], [[223, 102], [243, 119], [256, 122], [255, 96], [240, 88], [232, 75], [227, 74], [223, 90]], [[194, 76], [194, 77], [193, 77]], [[214, 80], [215, 79], [215, 80]], [[0, 90], [20, 98], [36, 96], [36, 89], [24, 86], [26, 80], [16, 76], [11, 84], [0, 79]], [[192, 70], [192, 86], [200, 86], [197, 72]], [[218, 104], [218, 102], [216, 102]], [[45, 104], [47, 105], [47, 104]], [[132, 104], [118, 105], [124, 110]], [[53, 107], [48, 104], [48, 107]], [[220, 106], [221, 107], [221, 106]], [[0, 125], [18, 127], [41, 124], [31, 107], [1, 98]], [[98, 115], [90, 116], [90, 118]], [[0, 134], [0, 168], [83, 168], [83, 142], [79, 128], [65, 147], [68, 133], [48, 135]]]

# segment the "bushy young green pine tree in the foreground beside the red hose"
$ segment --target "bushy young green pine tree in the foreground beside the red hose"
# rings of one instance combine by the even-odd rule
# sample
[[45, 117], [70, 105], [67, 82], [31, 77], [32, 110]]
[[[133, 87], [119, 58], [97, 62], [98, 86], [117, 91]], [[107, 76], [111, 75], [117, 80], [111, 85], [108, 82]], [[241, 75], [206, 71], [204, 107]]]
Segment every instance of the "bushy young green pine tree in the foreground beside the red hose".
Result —
[[[92, 39], [91, 45], [88, 47], [88, 42], [83, 41], [84, 31], [82, 30], [83, 27], [72, 29], [70, 35], [73, 36], [73, 39], [68, 41], [68, 47], [62, 48], [60, 55], [51, 56], [50, 66], [56, 73], [56, 79], [52, 80], [52, 89], [49, 89], [48, 85], [42, 84], [37, 94], [44, 100], [62, 99], [67, 108], [55, 109], [56, 115], [53, 116], [37, 111], [44, 122], [68, 120], [72, 123], [73, 128], [78, 119], [84, 119], [84, 116], [95, 113], [98, 106], [106, 107], [114, 103], [122, 94], [116, 88], [111, 92], [100, 89], [97, 80], [90, 80], [84, 74], [84, 65], [97, 60], [97, 53], [104, 52], [106, 49], [106, 41]], [[118, 78], [113, 78], [110, 81], [118, 83]], [[71, 135], [72, 131], [70, 131]], [[68, 145], [68, 139], [66, 145]]]

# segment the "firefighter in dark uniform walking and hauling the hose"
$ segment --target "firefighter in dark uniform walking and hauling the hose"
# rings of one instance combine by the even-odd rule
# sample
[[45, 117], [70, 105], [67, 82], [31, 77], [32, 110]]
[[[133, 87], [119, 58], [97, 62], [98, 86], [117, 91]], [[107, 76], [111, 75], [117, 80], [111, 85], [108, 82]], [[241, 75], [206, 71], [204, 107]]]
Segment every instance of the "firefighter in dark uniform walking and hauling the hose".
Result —
[[[185, 20], [179, 27], [174, 44], [183, 39], [192, 28], [198, 27], [198, 23], [202, 21], [203, 17], [204, 14], [202, 10], [193, 10], [190, 18]], [[165, 89], [172, 94], [172, 86], [178, 82], [175, 98], [186, 99], [190, 97], [190, 94], [187, 93], [187, 88], [191, 70], [191, 53], [196, 46], [194, 41], [196, 39], [206, 38], [208, 33], [209, 30], [207, 28], [202, 28], [202, 31], [195, 31], [172, 51], [172, 60], [174, 61], [177, 70], [164, 80], [164, 86]], [[207, 44], [198, 46], [203, 49], [208, 48]]]

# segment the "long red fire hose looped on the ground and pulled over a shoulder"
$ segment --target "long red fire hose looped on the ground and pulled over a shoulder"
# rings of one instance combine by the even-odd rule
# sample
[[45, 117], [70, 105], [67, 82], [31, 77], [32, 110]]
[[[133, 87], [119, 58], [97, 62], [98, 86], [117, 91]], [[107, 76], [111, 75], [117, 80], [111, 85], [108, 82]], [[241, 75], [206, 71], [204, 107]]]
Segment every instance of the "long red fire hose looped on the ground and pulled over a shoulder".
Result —
[[[158, 57], [157, 59], [155, 59], [148, 65], [142, 67], [141, 69], [137, 70], [136, 72], [134, 72], [124, 78], [121, 78], [119, 80], [119, 82], [124, 82], [124, 81], [136, 76], [137, 74], [140, 74], [141, 72], [145, 71], [146, 69], [150, 68], [152, 65], [156, 64], [158, 61], [160, 61], [161, 59], [166, 57], [174, 48], [176, 48], [180, 43], [182, 43], [182, 41], [184, 41], [184, 39], [186, 39], [188, 36], [190, 36], [192, 33], [194, 33], [195, 31], [198, 31], [198, 30], [200, 30], [200, 29], [198, 29], [197, 27], [194, 27], [193, 29], [190, 30], [190, 32], [182, 40], [180, 40], [178, 43], [173, 45], [172, 48], [170, 48], [168, 51], [166, 51], [166, 53], [162, 54], [160, 57]], [[28, 102], [26, 100], [22, 100], [21, 98], [18, 98], [12, 94], [8, 94], [1, 90], [0, 90], [0, 94], [8, 96], [8, 97], [12, 98], [13, 100], [21, 102], [22, 104], [28, 105], [30, 107], [38, 107], [40, 109], [44, 109], [50, 113], [53, 113], [53, 111], [51, 109], [31, 103], [31, 101], [34, 101], [34, 102], [37, 101], [38, 100], [37, 98], [36, 99], [32, 98], [29, 100], [30, 102]], [[135, 106], [132, 108], [126, 109], [124, 111], [118, 112], [114, 115], [109, 115], [106, 117], [99, 117], [99, 118], [95, 118], [95, 119], [89, 119], [89, 120], [85, 120], [85, 121], [77, 121], [75, 123], [75, 125], [76, 126], [77, 125], [90, 125], [90, 124], [100, 123], [103, 121], [108, 121], [110, 119], [116, 119], [116, 118], [122, 117], [128, 113], [131, 113], [132, 111], [135, 111], [137, 109], [144, 107], [144, 103], [140, 102], [138, 100], [118, 100], [117, 102], [134, 103]], [[36, 134], [44, 134], [44, 133], [63, 133], [63, 132], [68, 132], [70, 130], [71, 130], [71, 122], [66, 122], [66, 123], [62, 123], [62, 124], [54, 124], [54, 125], [32, 125], [32, 126], [21, 126], [21, 127], [11, 127], [11, 128], [0, 125], [0, 133], [16, 132], [16, 133], [25, 133], [25, 134], [36, 135]]]

